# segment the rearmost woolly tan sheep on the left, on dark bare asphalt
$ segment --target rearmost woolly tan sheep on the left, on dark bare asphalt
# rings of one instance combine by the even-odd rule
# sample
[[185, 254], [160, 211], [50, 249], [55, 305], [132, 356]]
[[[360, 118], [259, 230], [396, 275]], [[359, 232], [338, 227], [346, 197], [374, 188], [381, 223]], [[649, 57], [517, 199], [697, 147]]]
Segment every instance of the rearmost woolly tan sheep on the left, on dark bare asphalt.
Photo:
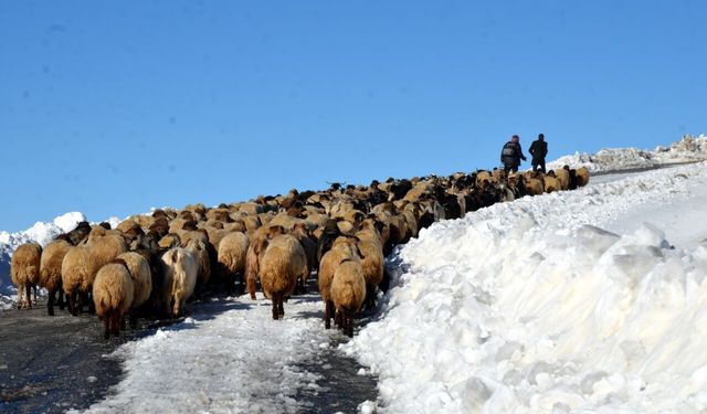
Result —
[[125, 314], [133, 306], [135, 287], [125, 262], [109, 263], [98, 270], [93, 284], [93, 302], [104, 323], [104, 338], [118, 336]]

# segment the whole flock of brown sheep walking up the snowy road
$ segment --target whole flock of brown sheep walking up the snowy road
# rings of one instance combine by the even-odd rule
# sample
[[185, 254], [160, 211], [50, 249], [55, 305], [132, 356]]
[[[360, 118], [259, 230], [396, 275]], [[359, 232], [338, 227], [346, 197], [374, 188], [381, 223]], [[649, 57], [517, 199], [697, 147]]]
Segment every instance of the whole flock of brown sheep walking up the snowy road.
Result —
[[377, 290], [388, 288], [384, 257], [421, 229], [499, 201], [588, 182], [584, 168], [547, 174], [477, 171], [156, 210], [114, 230], [82, 222], [43, 250], [35, 243], [19, 246], [11, 278], [18, 308], [36, 302], [36, 287], [43, 287], [49, 315], [56, 301], [74, 316], [95, 310], [107, 339], [126, 319], [135, 326], [137, 317], [178, 317], [193, 296], [247, 289], [255, 299], [258, 282], [278, 319], [283, 302], [306, 291], [316, 272], [326, 328], [334, 318], [350, 337], [354, 315], [374, 307]]

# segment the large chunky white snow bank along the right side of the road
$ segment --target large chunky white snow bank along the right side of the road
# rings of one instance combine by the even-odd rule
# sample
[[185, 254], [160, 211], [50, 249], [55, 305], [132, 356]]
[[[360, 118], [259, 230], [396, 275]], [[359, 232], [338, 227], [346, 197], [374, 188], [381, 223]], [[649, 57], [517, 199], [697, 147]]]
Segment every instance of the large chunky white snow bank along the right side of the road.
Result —
[[[675, 248], [633, 214], [650, 203], [679, 215], [695, 192], [707, 195], [706, 167], [496, 204], [423, 231], [394, 257], [402, 270], [383, 317], [344, 346], [380, 375], [380, 411], [707, 410], [707, 243]], [[634, 230], [600, 229], [618, 221]]]

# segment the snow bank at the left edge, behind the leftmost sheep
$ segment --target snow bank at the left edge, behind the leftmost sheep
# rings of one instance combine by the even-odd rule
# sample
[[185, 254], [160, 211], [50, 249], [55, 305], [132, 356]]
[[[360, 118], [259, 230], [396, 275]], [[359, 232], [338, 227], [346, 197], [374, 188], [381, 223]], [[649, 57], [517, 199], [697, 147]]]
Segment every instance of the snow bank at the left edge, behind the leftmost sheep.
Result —
[[10, 308], [15, 301], [17, 289], [10, 282], [10, 258], [14, 250], [28, 242], [36, 242], [44, 247], [59, 234], [71, 232], [85, 220], [83, 213], [72, 212], [60, 215], [51, 223], [36, 222], [23, 232], [0, 231], [0, 309]]

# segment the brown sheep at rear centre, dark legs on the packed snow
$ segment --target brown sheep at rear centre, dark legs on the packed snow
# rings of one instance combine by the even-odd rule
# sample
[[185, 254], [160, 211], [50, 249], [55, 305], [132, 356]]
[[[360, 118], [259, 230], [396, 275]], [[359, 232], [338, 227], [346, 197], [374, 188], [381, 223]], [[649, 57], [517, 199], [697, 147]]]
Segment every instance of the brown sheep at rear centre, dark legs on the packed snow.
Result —
[[307, 273], [307, 256], [304, 248], [289, 234], [270, 241], [260, 266], [261, 286], [265, 297], [273, 301], [273, 319], [285, 315], [283, 300], [292, 294], [297, 279]]

